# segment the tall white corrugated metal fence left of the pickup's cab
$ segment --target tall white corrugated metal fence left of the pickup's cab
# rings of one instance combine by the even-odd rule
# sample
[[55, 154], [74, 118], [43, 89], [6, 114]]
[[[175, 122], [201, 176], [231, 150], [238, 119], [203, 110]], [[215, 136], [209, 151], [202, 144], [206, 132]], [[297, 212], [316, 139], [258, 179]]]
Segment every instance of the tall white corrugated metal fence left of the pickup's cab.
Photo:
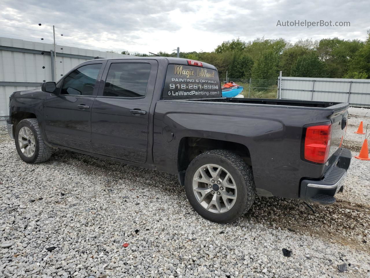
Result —
[[53, 44], [0, 37], [0, 125], [5, 125], [9, 116], [11, 93], [38, 88], [44, 81], [57, 81], [73, 67], [94, 57], [127, 56], [60, 45], [56, 52], [54, 80]]

